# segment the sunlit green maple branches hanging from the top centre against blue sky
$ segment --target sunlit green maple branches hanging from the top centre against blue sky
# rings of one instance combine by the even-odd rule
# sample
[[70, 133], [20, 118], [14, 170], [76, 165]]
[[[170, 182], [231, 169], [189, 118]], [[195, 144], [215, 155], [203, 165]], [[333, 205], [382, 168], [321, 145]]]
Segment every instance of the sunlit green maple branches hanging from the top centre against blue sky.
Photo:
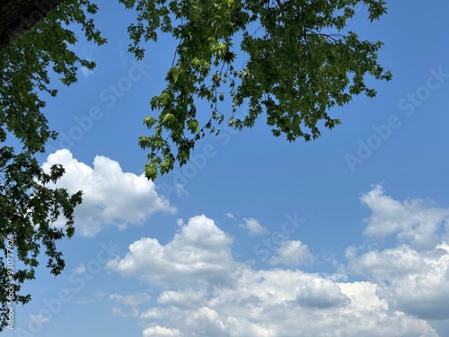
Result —
[[[152, 133], [139, 139], [149, 149], [145, 174], [152, 180], [170, 172], [176, 162], [186, 164], [206, 132], [219, 132], [225, 113], [218, 103], [226, 92], [233, 105], [230, 126], [251, 128], [263, 114], [275, 137], [309, 141], [320, 136], [321, 122], [328, 129], [340, 123], [330, 117], [332, 107], [360, 93], [375, 96], [365, 75], [392, 78], [377, 62], [382, 43], [345, 31], [358, 4], [367, 5], [374, 21], [386, 13], [383, 0], [120, 2], [136, 9], [136, 23], [128, 28], [129, 51], [136, 58], [144, 57], [143, 43], [156, 41], [159, 33], [179, 40], [166, 87], [151, 100], [159, 116], [145, 118]], [[242, 67], [235, 66], [238, 51], [246, 58]], [[200, 100], [210, 104], [210, 118], [202, 125]], [[249, 110], [236, 118], [243, 103]]]

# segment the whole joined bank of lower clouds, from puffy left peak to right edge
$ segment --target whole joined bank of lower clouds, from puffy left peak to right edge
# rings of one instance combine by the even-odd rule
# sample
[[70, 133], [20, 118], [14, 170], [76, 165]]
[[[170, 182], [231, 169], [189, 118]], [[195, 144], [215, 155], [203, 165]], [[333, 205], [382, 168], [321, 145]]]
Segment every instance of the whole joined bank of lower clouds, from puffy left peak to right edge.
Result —
[[[167, 244], [137, 240], [107, 269], [159, 290], [155, 304], [134, 315], [143, 336], [447, 335], [448, 210], [392, 200], [380, 186], [361, 201], [371, 212], [371, 244], [348, 247], [343, 275], [237, 262], [233, 237], [206, 216], [191, 217]], [[369, 248], [388, 235], [391, 246]], [[295, 266], [308, 254], [288, 240], [271, 264]]]

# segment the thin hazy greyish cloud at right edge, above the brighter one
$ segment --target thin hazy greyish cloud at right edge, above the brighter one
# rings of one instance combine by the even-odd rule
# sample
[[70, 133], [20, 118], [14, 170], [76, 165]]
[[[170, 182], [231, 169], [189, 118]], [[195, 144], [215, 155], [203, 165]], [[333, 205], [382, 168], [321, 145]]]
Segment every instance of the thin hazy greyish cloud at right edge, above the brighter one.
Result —
[[448, 208], [430, 207], [423, 200], [393, 200], [383, 194], [380, 185], [375, 185], [361, 200], [372, 212], [366, 219], [365, 235], [396, 235], [401, 242], [420, 249], [437, 244], [436, 230], [449, 219]]

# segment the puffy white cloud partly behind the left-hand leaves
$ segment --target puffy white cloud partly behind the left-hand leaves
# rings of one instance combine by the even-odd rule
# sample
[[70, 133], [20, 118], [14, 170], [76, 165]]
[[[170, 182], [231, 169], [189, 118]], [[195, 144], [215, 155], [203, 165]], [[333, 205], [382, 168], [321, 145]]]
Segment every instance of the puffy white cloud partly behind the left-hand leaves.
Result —
[[175, 210], [157, 194], [154, 182], [143, 174], [123, 173], [119, 163], [108, 157], [97, 155], [92, 168], [63, 149], [48, 155], [42, 168], [48, 172], [52, 164], [66, 168], [58, 187], [72, 193], [83, 191], [83, 203], [75, 208], [75, 226], [81, 235], [96, 235], [104, 226], [143, 224], [155, 212]]

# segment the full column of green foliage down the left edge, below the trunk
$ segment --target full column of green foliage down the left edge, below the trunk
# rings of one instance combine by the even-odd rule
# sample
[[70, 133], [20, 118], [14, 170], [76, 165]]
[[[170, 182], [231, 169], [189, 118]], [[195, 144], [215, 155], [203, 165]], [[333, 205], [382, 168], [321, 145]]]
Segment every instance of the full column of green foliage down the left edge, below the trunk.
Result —
[[[86, 16], [96, 10], [88, 0], [66, 1], [32, 30], [0, 49], [0, 249], [4, 253], [0, 264], [0, 331], [7, 324], [11, 304], [30, 301], [30, 295], [20, 292], [21, 285], [34, 279], [40, 251], [48, 257], [52, 274], [59, 274], [65, 266], [56, 244], [74, 235], [74, 208], [81, 203], [81, 191], [69, 194], [48, 187], [49, 182], [57, 182], [64, 168], [53, 165], [45, 173], [36, 158], [45, 152], [48, 139], [57, 137], [48, 129], [41, 96], [57, 94], [49, 86], [50, 75], [60, 75], [62, 83], [69, 85], [76, 81], [77, 67], [94, 67], [93, 62], [70, 50], [77, 38], [68, 27], [80, 24], [87, 40], [104, 43]], [[8, 142], [20, 145], [6, 146]], [[58, 217], [66, 219], [64, 226], [54, 226]], [[16, 260], [16, 269], [7, 265], [7, 256]]]

